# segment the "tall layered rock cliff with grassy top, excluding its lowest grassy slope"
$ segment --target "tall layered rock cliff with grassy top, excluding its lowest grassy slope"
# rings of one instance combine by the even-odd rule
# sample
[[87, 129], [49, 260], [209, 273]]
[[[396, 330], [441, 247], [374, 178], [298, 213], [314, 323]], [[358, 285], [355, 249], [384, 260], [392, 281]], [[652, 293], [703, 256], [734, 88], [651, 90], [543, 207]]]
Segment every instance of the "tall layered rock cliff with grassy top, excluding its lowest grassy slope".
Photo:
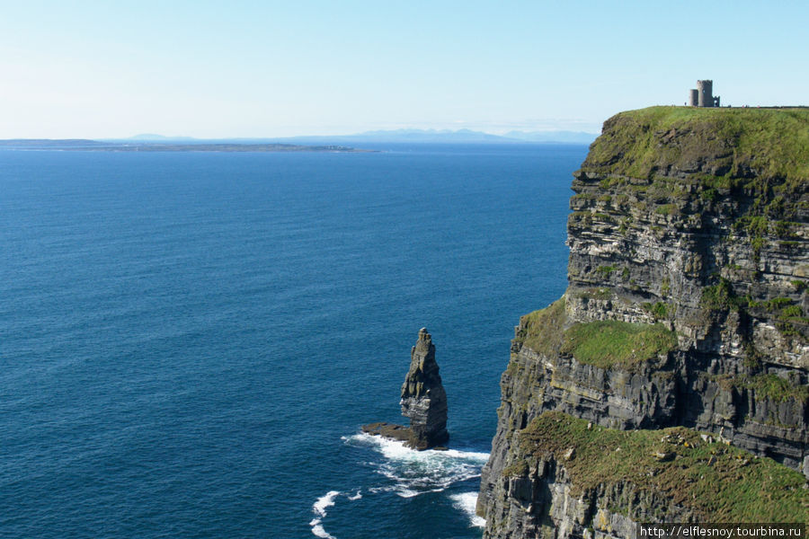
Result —
[[[590, 429], [697, 429], [809, 473], [807, 155], [809, 110], [660, 107], [605, 123], [574, 173], [569, 287], [520, 319], [502, 375], [486, 536], [716, 516], [609, 474], [582, 490], [525, 438], [557, 411]], [[629, 492], [646, 501], [627, 507]]]

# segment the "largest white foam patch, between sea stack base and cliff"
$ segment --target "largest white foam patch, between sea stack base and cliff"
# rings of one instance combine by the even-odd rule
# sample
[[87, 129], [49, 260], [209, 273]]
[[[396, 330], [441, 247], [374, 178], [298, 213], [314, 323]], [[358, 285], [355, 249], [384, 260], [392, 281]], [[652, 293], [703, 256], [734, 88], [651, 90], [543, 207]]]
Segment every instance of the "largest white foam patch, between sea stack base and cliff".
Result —
[[377, 473], [384, 475], [396, 486], [402, 498], [412, 498], [426, 492], [440, 492], [456, 482], [480, 477], [480, 468], [489, 458], [488, 453], [449, 449], [416, 451], [404, 442], [369, 434], [343, 438], [347, 444], [368, 446], [385, 456], [382, 463], [370, 463]]

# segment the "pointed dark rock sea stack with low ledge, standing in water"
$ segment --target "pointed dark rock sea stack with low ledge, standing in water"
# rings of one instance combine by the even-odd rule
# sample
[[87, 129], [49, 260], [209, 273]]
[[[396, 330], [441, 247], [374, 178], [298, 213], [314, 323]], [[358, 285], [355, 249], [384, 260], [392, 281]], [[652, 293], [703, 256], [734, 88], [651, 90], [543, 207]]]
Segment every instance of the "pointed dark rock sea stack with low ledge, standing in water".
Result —
[[427, 328], [419, 331], [419, 340], [410, 352], [410, 370], [402, 384], [402, 415], [410, 418], [410, 427], [392, 423], [371, 423], [362, 430], [381, 437], [402, 440], [405, 445], [423, 451], [443, 449], [447, 432], [447, 393], [441, 385], [435, 346]]

